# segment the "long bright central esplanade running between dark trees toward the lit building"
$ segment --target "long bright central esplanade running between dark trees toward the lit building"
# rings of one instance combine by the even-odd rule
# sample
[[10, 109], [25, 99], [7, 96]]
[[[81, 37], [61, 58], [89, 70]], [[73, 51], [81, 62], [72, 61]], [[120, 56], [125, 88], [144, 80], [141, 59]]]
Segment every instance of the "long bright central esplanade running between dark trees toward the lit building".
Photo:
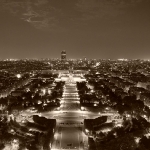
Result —
[[83, 116], [80, 110], [76, 82], [70, 79], [64, 86], [61, 113], [54, 116], [57, 119], [57, 131], [54, 135], [55, 140], [52, 144], [52, 150], [87, 149], [87, 137], [82, 132]]

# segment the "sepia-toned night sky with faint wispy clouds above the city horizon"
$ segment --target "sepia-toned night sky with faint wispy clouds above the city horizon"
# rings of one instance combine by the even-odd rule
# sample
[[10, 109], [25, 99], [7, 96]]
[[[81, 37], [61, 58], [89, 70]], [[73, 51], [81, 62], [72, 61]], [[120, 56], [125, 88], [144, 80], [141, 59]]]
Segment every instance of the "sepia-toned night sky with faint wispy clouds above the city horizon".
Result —
[[150, 0], [0, 0], [0, 59], [150, 59]]

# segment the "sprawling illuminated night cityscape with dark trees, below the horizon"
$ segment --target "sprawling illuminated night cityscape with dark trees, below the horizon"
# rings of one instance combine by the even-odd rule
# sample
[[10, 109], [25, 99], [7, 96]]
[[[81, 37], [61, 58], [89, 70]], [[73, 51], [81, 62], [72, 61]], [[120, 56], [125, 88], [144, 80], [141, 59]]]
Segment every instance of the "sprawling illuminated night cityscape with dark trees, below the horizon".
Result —
[[149, 66], [139, 59], [1, 61], [1, 149], [146, 148]]

